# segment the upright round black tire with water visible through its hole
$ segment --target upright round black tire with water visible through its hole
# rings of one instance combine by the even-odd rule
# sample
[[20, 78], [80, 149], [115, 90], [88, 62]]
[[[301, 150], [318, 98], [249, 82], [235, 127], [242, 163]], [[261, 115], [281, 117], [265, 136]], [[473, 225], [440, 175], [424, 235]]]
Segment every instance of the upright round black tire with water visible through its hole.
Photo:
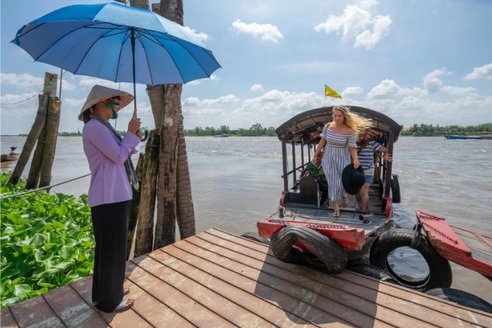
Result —
[[388, 263], [388, 256], [399, 247], [410, 247], [415, 235], [414, 230], [394, 229], [382, 233], [370, 249], [370, 263], [381, 268], [398, 280], [399, 284], [417, 291], [427, 291], [440, 287], [451, 287], [453, 273], [451, 265], [432, 247], [426, 237], [420, 236], [415, 250], [425, 258], [429, 266], [429, 275], [422, 280], [412, 281], [394, 273]]

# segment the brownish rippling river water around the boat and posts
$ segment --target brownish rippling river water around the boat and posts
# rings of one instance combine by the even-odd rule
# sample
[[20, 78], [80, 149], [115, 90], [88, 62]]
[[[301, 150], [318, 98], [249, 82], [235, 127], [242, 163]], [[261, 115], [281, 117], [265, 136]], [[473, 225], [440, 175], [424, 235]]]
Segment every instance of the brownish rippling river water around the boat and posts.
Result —
[[[10, 152], [11, 146], [17, 146], [16, 152], [20, 153], [24, 142], [25, 137], [3, 136], [1, 153]], [[257, 221], [276, 212], [283, 189], [282, 152], [277, 138], [188, 137], [186, 145], [197, 232], [209, 228], [238, 235], [257, 231]], [[394, 204], [393, 221], [387, 229], [412, 228], [415, 210], [420, 209], [442, 216], [452, 225], [492, 235], [491, 146], [491, 140], [399, 138], [394, 146], [393, 173], [399, 174], [401, 203]], [[2, 163], [1, 169], [12, 171], [13, 165]], [[58, 138], [52, 183], [86, 173], [89, 166], [82, 138]], [[79, 196], [89, 189], [89, 178], [53, 189]], [[414, 257], [401, 254], [399, 261], [405, 270], [418, 275], [419, 261]], [[492, 303], [492, 282], [459, 265], [452, 263], [452, 268], [453, 288]]]

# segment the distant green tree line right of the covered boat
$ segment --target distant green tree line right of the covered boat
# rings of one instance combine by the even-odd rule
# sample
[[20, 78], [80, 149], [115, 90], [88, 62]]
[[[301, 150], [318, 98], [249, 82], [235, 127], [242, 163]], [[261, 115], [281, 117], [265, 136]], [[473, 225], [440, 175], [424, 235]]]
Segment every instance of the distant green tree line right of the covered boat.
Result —
[[401, 136], [444, 136], [445, 134], [458, 134], [458, 135], [470, 135], [470, 134], [491, 134], [492, 123], [458, 126], [458, 125], [446, 125], [440, 126], [439, 124], [433, 126], [432, 124], [413, 124], [408, 131], [401, 131]]

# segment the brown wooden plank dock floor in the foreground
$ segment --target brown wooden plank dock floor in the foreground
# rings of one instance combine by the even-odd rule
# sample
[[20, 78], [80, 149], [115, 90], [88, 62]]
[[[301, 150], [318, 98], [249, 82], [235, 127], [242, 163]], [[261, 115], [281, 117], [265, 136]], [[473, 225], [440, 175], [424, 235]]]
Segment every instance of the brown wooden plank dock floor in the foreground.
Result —
[[492, 315], [345, 271], [278, 261], [211, 229], [129, 262], [135, 305], [96, 313], [91, 278], [1, 310], [1, 327], [492, 327]]

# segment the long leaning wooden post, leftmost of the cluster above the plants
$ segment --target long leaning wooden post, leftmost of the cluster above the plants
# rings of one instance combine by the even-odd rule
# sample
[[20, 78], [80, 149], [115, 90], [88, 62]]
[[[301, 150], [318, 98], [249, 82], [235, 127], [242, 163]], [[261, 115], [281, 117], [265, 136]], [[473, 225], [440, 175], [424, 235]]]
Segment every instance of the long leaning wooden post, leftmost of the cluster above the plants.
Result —
[[[46, 111], [48, 110], [48, 101], [50, 95], [56, 95], [56, 80], [58, 79], [58, 75], [53, 73], [46, 72], [44, 74], [44, 87], [43, 94], [39, 95], [39, 107], [37, 110], [36, 118], [34, 119], [34, 123], [32, 124], [31, 131], [27, 135], [27, 139], [25, 140], [24, 147], [22, 147], [22, 152], [20, 152], [19, 159], [17, 164], [15, 164], [15, 169], [11, 177], [8, 179], [8, 184], [16, 185], [19, 182], [20, 176], [22, 176], [22, 172], [29, 162], [29, 158], [31, 157], [31, 152], [34, 149], [34, 145], [36, 145], [37, 140], [39, 138], [39, 134], [44, 128], [44, 123], [46, 122]], [[43, 139], [44, 140], [44, 139]], [[37, 183], [36, 183], [37, 184]]]

